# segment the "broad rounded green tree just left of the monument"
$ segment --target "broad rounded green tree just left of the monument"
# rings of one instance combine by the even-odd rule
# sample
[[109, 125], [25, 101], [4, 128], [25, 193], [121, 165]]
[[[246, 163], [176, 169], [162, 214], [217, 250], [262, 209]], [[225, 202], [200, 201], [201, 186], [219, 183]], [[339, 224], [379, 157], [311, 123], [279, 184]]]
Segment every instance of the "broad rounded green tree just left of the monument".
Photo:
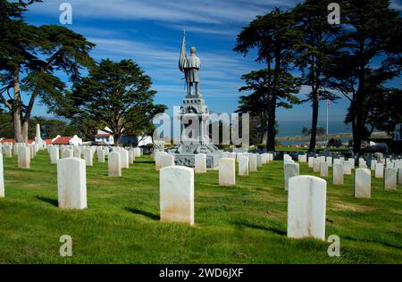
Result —
[[90, 130], [108, 127], [118, 144], [123, 132], [139, 137], [152, 133], [153, 117], [166, 107], [154, 104], [156, 91], [151, 87], [151, 78], [137, 63], [103, 60], [88, 77], [74, 83], [55, 112], [75, 125], [87, 123]]

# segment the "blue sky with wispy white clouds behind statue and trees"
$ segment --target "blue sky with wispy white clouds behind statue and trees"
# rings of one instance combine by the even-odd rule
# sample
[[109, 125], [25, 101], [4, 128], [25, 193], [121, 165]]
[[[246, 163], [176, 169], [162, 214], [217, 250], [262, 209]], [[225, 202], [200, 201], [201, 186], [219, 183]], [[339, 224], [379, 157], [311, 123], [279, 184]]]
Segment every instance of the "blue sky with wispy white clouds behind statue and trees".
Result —
[[[59, 6], [64, 2], [72, 6], [72, 24], [66, 27], [96, 44], [91, 53], [96, 61], [110, 58], [138, 62], [153, 79], [158, 92], [155, 103], [166, 104], [170, 109], [180, 105], [185, 95], [178, 59], [181, 29], [186, 29], [188, 49], [196, 46], [201, 59], [200, 91], [206, 103], [214, 112], [234, 112], [238, 89], [243, 86], [240, 76], [264, 67], [253, 61], [252, 54], [243, 57], [232, 51], [237, 34], [255, 15], [269, 12], [275, 6], [288, 9], [302, 1], [44, 0], [30, 6], [27, 21], [35, 25], [60, 24]], [[394, 0], [392, 6], [402, 10], [400, 1]], [[300, 97], [307, 91], [303, 87]], [[347, 107], [346, 99], [331, 104], [330, 120], [343, 120]], [[33, 114], [51, 116], [38, 103]], [[325, 102], [319, 115], [319, 120], [325, 120]], [[310, 104], [297, 105], [291, 110], [278, 109], [277, 118], [310, 120]]]

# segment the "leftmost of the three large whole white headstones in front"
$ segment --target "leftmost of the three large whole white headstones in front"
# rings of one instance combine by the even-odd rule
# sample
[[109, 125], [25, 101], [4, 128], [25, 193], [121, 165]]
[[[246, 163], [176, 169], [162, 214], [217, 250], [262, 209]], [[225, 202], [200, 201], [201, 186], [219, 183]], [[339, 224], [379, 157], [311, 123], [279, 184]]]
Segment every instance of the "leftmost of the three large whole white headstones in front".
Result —
[[85, 161], [66, 158], [57, 162], [57, 198], [59, 208], [87, 208], [87, 175]]

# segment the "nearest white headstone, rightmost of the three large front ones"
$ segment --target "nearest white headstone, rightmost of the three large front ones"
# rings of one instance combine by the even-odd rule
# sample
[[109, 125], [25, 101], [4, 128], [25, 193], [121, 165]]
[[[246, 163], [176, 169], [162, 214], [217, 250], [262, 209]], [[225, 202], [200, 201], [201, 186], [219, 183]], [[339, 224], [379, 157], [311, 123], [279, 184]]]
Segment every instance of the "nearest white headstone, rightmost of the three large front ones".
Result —
[[289, 179], [288, 237], [325, 240], [327, 181], [314, 176]]

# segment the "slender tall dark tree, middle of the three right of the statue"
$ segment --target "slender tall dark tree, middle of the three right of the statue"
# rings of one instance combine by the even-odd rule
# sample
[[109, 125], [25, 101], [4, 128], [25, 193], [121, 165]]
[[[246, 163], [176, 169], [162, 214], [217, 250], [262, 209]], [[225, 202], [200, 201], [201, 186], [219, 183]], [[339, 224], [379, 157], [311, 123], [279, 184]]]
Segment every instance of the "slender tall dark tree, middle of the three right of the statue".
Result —
[[318, 108], [320, 100], [335, 100], [338, 98], [331, 92], [328, 68], [331, 55], [338, 52], [340, 45], [337, 37], [340, 33], [339, 25], [328, 23], [328, 4], [322, 0], [307, 0], [297, 4], [293, 9], [295, 15], [295, 29], [302, 34], [302, 41], [297, 46], [296, 66], [302, 71], [301, 79], [305, 86], [311, 87], [306, 101], [312, 103], [312, 127], [310, 133], [309, 151], [315, 151]]

